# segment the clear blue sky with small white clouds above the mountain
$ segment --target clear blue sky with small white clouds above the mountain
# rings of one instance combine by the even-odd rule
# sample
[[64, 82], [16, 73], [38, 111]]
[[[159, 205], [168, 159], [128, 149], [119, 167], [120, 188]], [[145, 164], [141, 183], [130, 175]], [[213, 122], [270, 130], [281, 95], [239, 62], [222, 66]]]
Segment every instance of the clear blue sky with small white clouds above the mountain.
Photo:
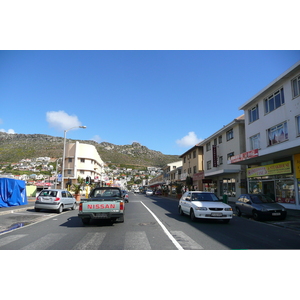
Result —
[[0, 51], [0, 131], [181, 155], [300, 51]]

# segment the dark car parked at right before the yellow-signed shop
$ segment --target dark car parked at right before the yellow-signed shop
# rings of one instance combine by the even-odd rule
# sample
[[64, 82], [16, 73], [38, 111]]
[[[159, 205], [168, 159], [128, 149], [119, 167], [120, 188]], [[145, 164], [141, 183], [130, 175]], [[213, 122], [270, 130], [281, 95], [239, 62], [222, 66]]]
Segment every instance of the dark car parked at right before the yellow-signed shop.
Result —
[[286, 209], [264, 194], [242, 194], [235, 203], [238, 216], [242, 214], [253, 217], [254, 220], [262, 218], [286, 218]]

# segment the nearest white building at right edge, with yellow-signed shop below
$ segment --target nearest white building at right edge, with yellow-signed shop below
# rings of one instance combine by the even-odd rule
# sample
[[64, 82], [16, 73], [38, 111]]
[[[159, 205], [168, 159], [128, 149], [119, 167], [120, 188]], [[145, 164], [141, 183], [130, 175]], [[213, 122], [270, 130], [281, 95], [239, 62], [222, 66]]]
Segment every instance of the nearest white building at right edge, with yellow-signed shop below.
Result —
[[239, 109], [246, 149], [235, 151], [231, 166], [247, 166], [248, 192], [300, 209], [300, 61]]

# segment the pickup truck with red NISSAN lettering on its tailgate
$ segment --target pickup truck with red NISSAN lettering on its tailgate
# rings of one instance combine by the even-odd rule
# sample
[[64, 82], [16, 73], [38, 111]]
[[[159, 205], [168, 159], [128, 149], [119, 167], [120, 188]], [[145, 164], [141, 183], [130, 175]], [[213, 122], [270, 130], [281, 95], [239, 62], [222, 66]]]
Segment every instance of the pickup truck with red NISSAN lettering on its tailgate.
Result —
[[118, 187], [94, 188], [88, 198], [81, 199], [78, 217], [87, 225], [91, 220], [124, 222], [125, 201]]

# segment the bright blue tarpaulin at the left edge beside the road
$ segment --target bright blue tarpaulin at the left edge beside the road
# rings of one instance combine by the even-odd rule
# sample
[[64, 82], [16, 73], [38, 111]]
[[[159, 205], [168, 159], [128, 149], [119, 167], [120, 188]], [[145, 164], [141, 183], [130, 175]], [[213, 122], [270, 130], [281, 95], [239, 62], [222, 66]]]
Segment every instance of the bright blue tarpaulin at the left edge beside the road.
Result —
[[0, 207], [25, 205], [27, 203], [25, 181], [0, 178]]

